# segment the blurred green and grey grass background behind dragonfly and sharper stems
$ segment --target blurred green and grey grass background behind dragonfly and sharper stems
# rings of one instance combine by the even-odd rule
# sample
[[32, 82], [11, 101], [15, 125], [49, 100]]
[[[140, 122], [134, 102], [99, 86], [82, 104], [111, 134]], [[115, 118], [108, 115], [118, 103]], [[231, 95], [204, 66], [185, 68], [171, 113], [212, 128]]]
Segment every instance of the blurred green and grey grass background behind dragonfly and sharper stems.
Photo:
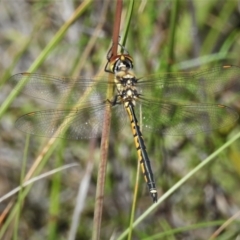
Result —
[[[6, 103], [8, 79], [25, 72], [43, 54], [45, 47], [79, 4], [86, 4], [77, 21], [51, 47], [35, 68], [38, 73], [60, 76], [95, 76], [106, 64], [111, 46], [115, 1], [3, 0], [0, 5], [0, 103]], [[128, 1], [124, 1], [122, 29]], [[176, 6], [176, 3], [178, 5]], [[104, 12], [104, 7], [107, 11]], [[176, 17], [171, 25], [171, 18]], [[240, 2], [235, 0], [135, 1], [126, 47], [134, 59], [138, 76], [171, 71], [189, 71], [214, 65], [240, 66]], [[239, 70], [240, 76], [240, 70]], [[240, 112], [239, 85], [222, 92], [228, 106]], [[24, 113], [48, 106], [23, 94], [16, 96], [0, 115], [0, 196], [19, 186], [26, 135], [16, 130], [15, 120]], [[239, 122], [227, 131], [192, 137], [144, 134], [159, 195], [207, 156], [239, 132]], [[117, 239], [129, 226], [135, 185], [137, 155], [132, 134], [121, 131], [110, 140], [100, 239]], [[31, 136], [27, 169], [43, 154], [48, 139]], [[83, 201], [76, 239], [90, 239], [100, 139], [58, 139], [44, 160], [41, 172], [77, 162], [79, 166], [42, 179], [32, 186], [15, 220], [5, 220], [0, 234], [5, 239], [69, 239], [78, 192], [86, 174], [90, 176]], [[91, 153], [91, 158], [89, 158]], [[94, 162], [89, 170], [89, 163]], [[91, 166], [91, 165], [90, 165]], [[162, 202], [133, 230], [132, 239], [209, 239], [218, 227], [239, 213], [239, 140], [197, 172]], [[84, 195], [85, 196], [85, 195]], [[0, 203], [0, 212], [11, 199]], [[136, 217], [152, 205], [140, 177]], [[13, 208], [12, 208], [13, 209]], [[3, 215], [2, 215], [3, 216]], [[10, 216], [10, 215], [9, 215]], [[14, 230], [14, 231], [13, 231]], [[4, 239], [3, 235], [1, 235]], [[239, 239], [239, 218], [227, 224], [217, 239]]]

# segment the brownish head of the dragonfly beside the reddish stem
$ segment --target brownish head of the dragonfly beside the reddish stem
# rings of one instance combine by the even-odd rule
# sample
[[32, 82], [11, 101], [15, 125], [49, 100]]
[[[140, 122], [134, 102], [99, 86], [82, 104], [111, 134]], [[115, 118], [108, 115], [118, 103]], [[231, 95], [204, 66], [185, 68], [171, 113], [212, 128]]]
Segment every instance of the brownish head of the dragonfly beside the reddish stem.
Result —
[[133, 69], [133, 59], [129, 54], [116, 55], [109, 62], [109, 68], [112, 73], [120, 71], [129, 71]]

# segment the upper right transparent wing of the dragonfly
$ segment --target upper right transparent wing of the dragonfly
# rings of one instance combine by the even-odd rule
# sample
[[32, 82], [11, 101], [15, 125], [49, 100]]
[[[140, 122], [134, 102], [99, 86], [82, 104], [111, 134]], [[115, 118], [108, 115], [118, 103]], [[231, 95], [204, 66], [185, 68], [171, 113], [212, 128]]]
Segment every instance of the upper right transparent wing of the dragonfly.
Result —
[[210, 94], [234, 87], [239, 80], [239, 67], [216, 66], [199, 72], [146, 76], [138, 79], [138, 88], [143, 98], [206, 101]]

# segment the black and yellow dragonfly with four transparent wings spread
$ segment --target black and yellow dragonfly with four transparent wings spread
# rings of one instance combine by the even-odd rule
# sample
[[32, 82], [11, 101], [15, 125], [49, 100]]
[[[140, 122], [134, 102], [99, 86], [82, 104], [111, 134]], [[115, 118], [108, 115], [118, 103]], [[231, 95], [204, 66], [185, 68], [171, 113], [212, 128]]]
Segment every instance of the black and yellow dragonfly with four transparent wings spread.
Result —
[[[227, 127], [239, 117], [232, 108], [212, 103], [213, 94], [220, 94], [240, 79], [238, 66], [139, 78], [133, 72], [133, 58], [124, 49], [116, 56], [108, 55], [105, 72], [106, 75], [96, 78], [27, 72], [13, 75], [10, 82], [15, 85], [26, 81], [20, 90], [24, 94], [58, 105], [21, 116], [16, 127], [45, 137], [96, 138], [102, 132], [108, 105], [116, 131], [131, 126], [138, 161], [153, 202], [157, 202], [158, 194], [143, 132], [159, 136], [192, 135]], [[113, 81], [108, 80], [108, 74]], [[108, 88], [113, 90], [110, 98], [106, 97]]]

